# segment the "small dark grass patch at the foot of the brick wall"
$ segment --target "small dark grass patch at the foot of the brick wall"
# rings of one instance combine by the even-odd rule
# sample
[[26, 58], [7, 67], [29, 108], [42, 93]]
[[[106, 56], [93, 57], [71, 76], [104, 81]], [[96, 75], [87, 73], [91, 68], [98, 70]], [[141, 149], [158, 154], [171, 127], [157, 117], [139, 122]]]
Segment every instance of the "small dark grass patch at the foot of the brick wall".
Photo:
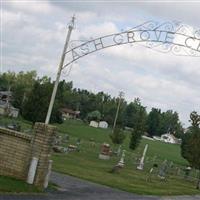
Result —
[[36, 193], [40, 189], [15, 178], [0, 176], [0, 193]]

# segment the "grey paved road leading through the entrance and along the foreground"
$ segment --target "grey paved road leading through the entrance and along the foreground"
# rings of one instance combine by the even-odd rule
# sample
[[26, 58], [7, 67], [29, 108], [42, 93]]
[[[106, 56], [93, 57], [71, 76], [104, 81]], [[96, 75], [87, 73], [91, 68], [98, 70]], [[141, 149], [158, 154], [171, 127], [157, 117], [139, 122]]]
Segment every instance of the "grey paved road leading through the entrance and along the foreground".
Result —
[[200, 200], [200, 196], [139, 196], [55, 172], [51, 181], [60, 186], [60, 191], [40, 195], [0, 195], [0, 200]]

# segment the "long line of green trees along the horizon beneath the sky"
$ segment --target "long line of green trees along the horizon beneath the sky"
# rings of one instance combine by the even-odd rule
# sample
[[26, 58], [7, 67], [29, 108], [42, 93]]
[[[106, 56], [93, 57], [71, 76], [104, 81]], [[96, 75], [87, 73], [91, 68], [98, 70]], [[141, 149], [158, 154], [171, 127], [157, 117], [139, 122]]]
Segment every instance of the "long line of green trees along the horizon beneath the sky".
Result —
[[[54, 82], [47, 76], [38, 77], [36, 71], [6, 72], [0, 75], [0, 90], [13, 93], [12, 105], [20, 109], [23, 118], [44, 122]], [[74, 88], [72, 82], [60, 81], [52, 111], [51, 123], [62, 123], [60, 109], [67, 107], [80, 111], [82, 120], [105, 120], [112, 126], [118, 105], [118, 97], [104, 92], [93, 93]], [[181, 137], [183, 127], [179, 115], [173, 110], [162, 112], [152, 108], [148, 113], [139, 98], [132, 102], [122, 99], [117, 126], [138, 129], [150, 136], [170, 132]]]

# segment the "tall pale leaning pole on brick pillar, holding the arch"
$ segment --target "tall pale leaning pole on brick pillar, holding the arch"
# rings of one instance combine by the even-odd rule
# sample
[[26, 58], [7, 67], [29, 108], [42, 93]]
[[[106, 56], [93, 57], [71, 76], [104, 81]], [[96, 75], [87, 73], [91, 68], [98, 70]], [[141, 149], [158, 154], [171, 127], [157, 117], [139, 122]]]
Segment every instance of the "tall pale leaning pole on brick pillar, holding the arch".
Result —
[[75, 16], [72, 17], [71, 23], [68, 26], [68, 33], [67, 33], [65, 45], [64, 45], [64, 48], [63, 48], [62, 56], [61, 56], [61, 59], [60, 59], [60, 64], [59, 64], [59, 67], [58, 67], [56, 81], [55, 81], [53, 92], [52, 92], [52, 95], [51, 95], [51, 100], [50, 100], [50, 103], [49, 103], [49, 108], [48, 108], [45, 124], [48, 124], [49, 121], [50, 121], [51, 112], [52, 112], [52, 109], [53, 109], [53, 104], [54, 104], [57, 89], [58, 89], [58, 84], [59, 84], [59, 80], [60, 80], [62, 67], [63, 67], [63, 63], [65, 61], [66, 51], [67, 51], [67, 48], [68, 48], [68, 45], [69, 45], [69, 40], [70, 40], [70, 36], [71, 36], [71, 33], [72, 33], [72, 29], [74, 28], [74, 21], [75, 21]]

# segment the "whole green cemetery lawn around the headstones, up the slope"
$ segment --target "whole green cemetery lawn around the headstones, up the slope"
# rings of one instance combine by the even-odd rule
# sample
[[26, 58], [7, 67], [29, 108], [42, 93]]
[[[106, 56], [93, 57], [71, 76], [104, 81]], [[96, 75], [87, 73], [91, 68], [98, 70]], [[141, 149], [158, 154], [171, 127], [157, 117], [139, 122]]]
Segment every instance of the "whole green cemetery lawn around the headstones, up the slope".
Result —
[[[155, 162], [159, 165], [163, 160], [167, 159], [168, 161], [173, 161], [174, 165], [179, 166], [180, 169], [184, 169], [187, 162], [180, 155], [179, 145], [143, 139], [138, 149], [131, 151], [128, 148], [130, 134], [127, 133], [126, 141], [123, 144], [123, 149], [126, 149], [125, 167], [119, 173], [113, 174], [109, 171], [118, 163], [120, 158], [112, 156], [111, 160], [107, 161], [98, 159], [100, 145], [103, 142], [111, 144], [109, 129], [92, 128], [74, 120], [68, 120], [57, 127], [62, 136], [68, 134], [70, 137], [69, 142], [63, 143], [63, 146], [76, 145], [77, 138], [80, 138], [81, 150], [80, 152], [74, 151], [67, 154], [54, 153], [52, 156], [54, 171], [137, 194], [200, 194], [200, 191], [195, 189], [196, 180], [185, 180], [183, 174], [182, 176], [170, 174], [167, 176], [166, 181], [161, 181], [157, 176], [158, 172], [155, 172], [152, 176], [152, 182], [146, 181], [148, 171]], [[95, 147], [89, 141], [91, 138], [96, 141]], [[135, 159], [141, 156], [146, 143], [149, 144], [149, 149], [147, 151], [145, 169], [144, 171], [139, 171], [136, 170]]]

